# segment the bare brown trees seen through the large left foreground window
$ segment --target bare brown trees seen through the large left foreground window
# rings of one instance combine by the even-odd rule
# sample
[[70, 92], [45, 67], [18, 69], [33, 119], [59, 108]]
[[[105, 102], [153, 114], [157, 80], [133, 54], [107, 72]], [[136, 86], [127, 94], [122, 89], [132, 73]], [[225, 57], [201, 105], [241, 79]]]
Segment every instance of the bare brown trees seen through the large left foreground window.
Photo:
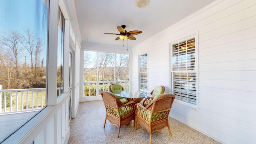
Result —
[[46, 66], [41, 57], [42, 46], [42, 39], [29, 29], [0, 36], [2, 89], [45, 88]]

